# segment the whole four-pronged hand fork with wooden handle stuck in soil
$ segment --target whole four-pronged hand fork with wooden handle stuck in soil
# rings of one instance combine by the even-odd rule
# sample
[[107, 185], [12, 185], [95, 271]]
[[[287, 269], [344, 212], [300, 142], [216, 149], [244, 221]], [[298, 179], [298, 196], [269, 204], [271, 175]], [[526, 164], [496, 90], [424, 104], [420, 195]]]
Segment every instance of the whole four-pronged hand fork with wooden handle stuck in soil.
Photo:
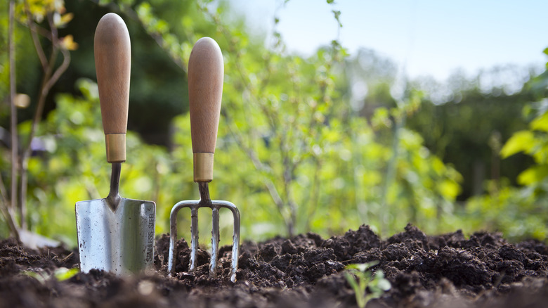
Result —
[[208, 183], [213, 179], [213, 156], [217, 140], [221, 96], [223, 93], [223, 54], [216, 41], [209, 37], [199, 39], [188, 59], [188, 97], [190, 101], [190, 134], [193, 143], [194, 181], [198, 183], [200, 200], [176, 203], [170, 214], [169, 274], [174, 273], [175, 241], [177, 239], [177, 212], [190, 207], [190, 266], [196, 269], [198, 250], [198, 209], [211, 207], [211, 262], [209, 276], [216, 277], [219, 240], [219, 210], [228, 208], [234, 217], [232, 264], [230, 281], [236, 281], [238, 249], [240, 245], [240, 212], [228, 201], [211, 200]]

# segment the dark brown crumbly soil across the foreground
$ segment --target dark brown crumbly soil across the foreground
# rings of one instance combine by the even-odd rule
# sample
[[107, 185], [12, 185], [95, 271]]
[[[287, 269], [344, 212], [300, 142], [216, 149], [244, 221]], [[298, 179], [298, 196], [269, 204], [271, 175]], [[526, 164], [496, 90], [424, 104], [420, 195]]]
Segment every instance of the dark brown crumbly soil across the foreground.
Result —
[[[237, 282], [229, 281], [230, 247], [221, 248], [218, 278], [209, 253], [187, 273], [190, 249], [178, 241], [176, 275], [168, 277], [169, 237], [156, 240], [155, 271], [117, 277], [103, 271], [55, 278], [78, 267], [77, 250], [29, 250], [0, 241], [0, 307], [355, 307], [346, 264], [377, 260], [391, 289], [367, 307], [545, 307], [548, 247], [508, 243], [498, 233], [426, 236], [417, 227], [381, 240], [368, 226], [324, 239], [314, 233], [241, 245]], [[37, 274], [32, 274], [37, 273]]]

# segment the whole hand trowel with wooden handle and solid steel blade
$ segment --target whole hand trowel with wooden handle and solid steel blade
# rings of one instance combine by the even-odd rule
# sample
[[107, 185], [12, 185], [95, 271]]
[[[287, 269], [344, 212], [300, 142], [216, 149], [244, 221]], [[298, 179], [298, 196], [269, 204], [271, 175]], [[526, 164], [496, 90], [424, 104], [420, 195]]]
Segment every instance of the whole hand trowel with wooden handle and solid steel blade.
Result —
[[118, 193], [126, 161], [131, 47], [124, 20], [108, 13], [99, 20], [94, 41], [101, 117], [112, 163], [107, 198], [76, 203], [80, 269], [129, 274], [152, 266], [156, 205]]

